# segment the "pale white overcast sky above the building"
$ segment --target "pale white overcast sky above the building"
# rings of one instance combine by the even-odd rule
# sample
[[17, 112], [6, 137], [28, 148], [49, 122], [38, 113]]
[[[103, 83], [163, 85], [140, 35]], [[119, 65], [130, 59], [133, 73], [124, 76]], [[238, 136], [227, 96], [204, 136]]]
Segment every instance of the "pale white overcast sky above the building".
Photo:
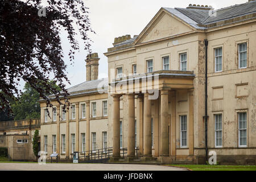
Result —
[[[93, 40], [92, 52], [100, 57], [99, 78], [108, 77], [108, 61], [103, 53], [113, 47], [114, 38], [122, 35], [139, 35], [161, 7], [187, 7], [190, 3], [196, 5], [211, 5], [214, 9], [228, 7], [248, 0], [85, 0], [89, 7], [89, 18], [96, 35], [90, 34]], [[67, 52], [64, 40], [64, 51]], [[67, 50], [67, 51], [66, 51]], [[68, 52], [67, 52], [68, 54]], [[68, 78], [71, 85], [80, 84], [86, 80], [85, 59], [88, 52], [83, 49], [80, 41], [80, 52], [75, 58], [75, 65], [68, 65]], [[65, 63], [69, 64], [68, 57], [64, 55]], [[20, 85], [23, 88], [23, 84]]]

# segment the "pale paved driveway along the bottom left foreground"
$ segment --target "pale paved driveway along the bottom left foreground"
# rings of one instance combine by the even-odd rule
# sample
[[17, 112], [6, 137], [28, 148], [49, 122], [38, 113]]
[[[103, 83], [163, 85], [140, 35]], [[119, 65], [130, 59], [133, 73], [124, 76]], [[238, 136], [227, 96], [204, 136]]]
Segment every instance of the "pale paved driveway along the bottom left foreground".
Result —
[[0, 171], [184, 171], [186, 169], [150, 164], [43, 164], [0, 163]]

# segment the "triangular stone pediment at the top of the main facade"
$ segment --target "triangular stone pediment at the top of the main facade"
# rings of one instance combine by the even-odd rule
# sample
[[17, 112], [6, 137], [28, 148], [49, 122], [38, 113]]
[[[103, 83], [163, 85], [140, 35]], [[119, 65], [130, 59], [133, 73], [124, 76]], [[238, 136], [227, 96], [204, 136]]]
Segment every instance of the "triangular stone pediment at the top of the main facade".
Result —
[[193, 28], [188, 24], [161, 9], [144, 28], [134, 44], [152, 42], [192, 31]]

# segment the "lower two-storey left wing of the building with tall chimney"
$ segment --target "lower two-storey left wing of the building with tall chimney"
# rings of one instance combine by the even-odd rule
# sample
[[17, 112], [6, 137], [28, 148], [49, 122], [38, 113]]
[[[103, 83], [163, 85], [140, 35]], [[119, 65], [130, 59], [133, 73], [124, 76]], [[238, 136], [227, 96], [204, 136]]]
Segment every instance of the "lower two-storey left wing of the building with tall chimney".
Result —
[[86, 81], [68, 89], [69, 108], [63, 109], [53, 97], [53, 108], [48, 110], [46, 102], [39, 101], [41, 150], [47, 159], [53, 153], [59, 154], [60, 159], [71, 159], [74, 151], [108, 146], [108, 80], [98, 79], [99, 60], [97, 53], [88, 55]]

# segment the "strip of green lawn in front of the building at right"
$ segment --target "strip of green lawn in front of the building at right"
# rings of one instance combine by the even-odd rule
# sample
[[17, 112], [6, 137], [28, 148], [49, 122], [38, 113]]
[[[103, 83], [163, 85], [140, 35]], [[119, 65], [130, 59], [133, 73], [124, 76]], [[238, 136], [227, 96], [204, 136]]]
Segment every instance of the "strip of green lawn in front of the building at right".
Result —
[[183, 167], [192, 171], [256, 171], [256, 166], [230, 166], [230, 165], [168, 165]]

